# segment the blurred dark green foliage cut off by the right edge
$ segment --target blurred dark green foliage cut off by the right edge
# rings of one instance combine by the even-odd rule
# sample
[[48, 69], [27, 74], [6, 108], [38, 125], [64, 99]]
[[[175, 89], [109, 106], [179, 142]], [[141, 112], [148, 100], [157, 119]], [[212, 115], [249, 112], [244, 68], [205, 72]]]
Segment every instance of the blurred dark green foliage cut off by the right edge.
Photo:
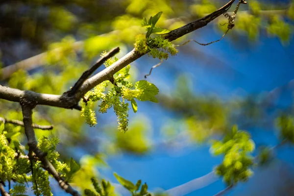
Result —
[[276, 123], [280, 129], [280, 138], [294, 143], [294, 118], [282, 115], [277, 119]]

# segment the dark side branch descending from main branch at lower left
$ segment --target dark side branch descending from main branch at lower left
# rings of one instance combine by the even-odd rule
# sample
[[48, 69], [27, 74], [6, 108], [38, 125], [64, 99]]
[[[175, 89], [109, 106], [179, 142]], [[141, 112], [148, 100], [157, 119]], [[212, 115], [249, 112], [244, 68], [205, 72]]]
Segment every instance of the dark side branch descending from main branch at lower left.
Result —
[[34, 108], [35, 104], [27, 100], [22, 100], [21, 105], [24, 116], [25, 135], [27, 138], [27, 144], [29, 149], [35, 152], [36, 156], [42, 162], [44, 169], [47, 170], [55, 178], [55, 180], [58, 182], [59, 186], [63, 190], [65, 190], [67, 193], [70, 193], [73, 196], [80, 196], [79, 193], [75, 191], [73, 187], [71, 187], [71, 185], [69, 185], [59, 176], [58, 172], [46, 158], [46, 153], [42, 152], [37, 147], [37, 140], [35, 137], [34, 129], [32, 127], [32, 109]]

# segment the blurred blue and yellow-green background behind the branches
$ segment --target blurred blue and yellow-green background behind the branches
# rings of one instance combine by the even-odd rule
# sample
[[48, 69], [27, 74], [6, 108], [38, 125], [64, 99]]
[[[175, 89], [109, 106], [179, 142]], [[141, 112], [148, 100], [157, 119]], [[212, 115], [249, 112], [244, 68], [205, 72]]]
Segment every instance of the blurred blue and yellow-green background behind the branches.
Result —
[[[0, 84], [60, 95], [103, 51], [119, 46], [120, 58], [133, 49], [135, 36], [145, 33], [144, 17], [162, 11], [157, 25], [172, 30], [227, 1], [1, 0]], [[293, 115], [293, 20], [294, 1], [248, 0], [240, 6], [235, 27], [220, 42], [180, 46], [176, 56], [153, 69], [147, 81], [159, 88], [159, 103], [138, 101], [138, 112], [129, 111], [126, 133], [118, 131], [113, 110], [100, 114], [97, 103], [95, 127], [86, 124], [79, 111], [37, 106], [34, 123], [54, 125], [51, 131], [36, 130], [37, 137], [60, 138], [61, 160], [73, 157], [81, 165], [73, 178], [81, 190], [95, 175], [128, 196], [116, 184], [113, 172], [117, 172], [132, 182], [142, 179], [150, 190], [170, 190], [198, 179], [181, 194], [217, 194], [225, 184], [211, 172], [222, 157], [210, 154], [210, 140], [237, 124], [250, 132], [256, 155], [261, 147], [280, 143], [275, 119]], [[174, 44], [218, 40], [226, 22], [221, 16]], [[129, 81], [145, 79], [157, 63], [147, 55], [131, 63]], [[22, 120], [20, 111], [17, 103], [0, 100], [1, 117]], [[18, 138], [26, 143], [24, 134]], [[293, 147], [276, 148], [270, 162], [253, 172], [248, 182], [227, 195], [294, 195]], [[180, 189], [168, 193], [179, 196]], [[54, 180], [52, 192], [67, 195]]]

